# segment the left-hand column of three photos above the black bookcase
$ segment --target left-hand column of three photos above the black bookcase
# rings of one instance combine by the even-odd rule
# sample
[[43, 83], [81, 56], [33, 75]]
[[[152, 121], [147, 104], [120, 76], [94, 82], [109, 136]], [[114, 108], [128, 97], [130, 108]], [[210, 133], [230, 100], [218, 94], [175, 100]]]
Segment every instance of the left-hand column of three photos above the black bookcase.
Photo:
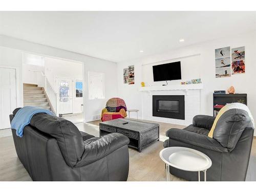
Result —
[[215, 77], [230, 77], [230, 47], [215, 50]]

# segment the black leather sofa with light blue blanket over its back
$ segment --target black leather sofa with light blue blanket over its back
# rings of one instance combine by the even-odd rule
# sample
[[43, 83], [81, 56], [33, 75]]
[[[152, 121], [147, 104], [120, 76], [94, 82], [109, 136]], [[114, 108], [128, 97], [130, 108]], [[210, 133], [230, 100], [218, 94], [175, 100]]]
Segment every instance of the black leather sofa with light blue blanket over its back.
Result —
[[32, 117], [22, 138], [15, 130], [12, 135], [17, 156], [33, 181], [127, 180], [129, 139], [124, 135], [94, 137], [68, 120], [43, 113]]

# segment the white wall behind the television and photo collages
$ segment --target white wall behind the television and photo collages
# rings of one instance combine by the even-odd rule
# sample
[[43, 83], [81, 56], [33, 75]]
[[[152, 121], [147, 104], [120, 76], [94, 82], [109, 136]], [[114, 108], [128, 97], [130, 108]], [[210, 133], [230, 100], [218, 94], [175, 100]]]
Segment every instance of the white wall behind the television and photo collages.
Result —
[[[230, 48], [245, 46], [245, 74], [232, 75], [226, 78], [215, 78], [215, 49], [227, 46], [230, 46]], [[144, 52], [146, 53], [146, 50]], [[238, 36], [230, 36], [204, 42], [203, 44], [171, 50], [166, 53], [147, 56], [141, 59], [119, 62], [117, 63], [118, 95], [125, 100], [128, 109], [140, 110], [139, 116], [142, 118], [143, 97], [142, 93], [139, 92], [140, 82], [145, 81], [146, 85], [154, 84], [154, 82], [152, 82], [152, 71], [148, 69], [148, 66], [151, 68], [152, 65], [145, 65], [147, 63], [159, 63], [159, 61], [163, 60], [181, 60], [183, 63], [182, 70], [186, 71], [183, 79], [189, 80], [200, 77], [204, 84], [204, 89], [201, 91], [202, 114], [212, 115], [212, 93], [214, 90], [227, 90], [230, 86], [234, 86], [237, 93], [248, 94], [248, 106], [256, 119], [255, 53], [256, 35], [255, 32], [249, 32]], [[189, 55], [200, 56], [188, 57], [185, 61], [183, 57]], [[135, 65], [134, 85], [123, 83], [123, 68], [127, 68], [127, 66], [130, 65]], [[191, 73], [189, 73], [189, 71], [191, 71]], [[158, 83], [162, 84], [162, 82]], [[179, 84], [180, 80], [169, 83]], [[152, 103], [148, 103], [148, 105], [152, 105]]]

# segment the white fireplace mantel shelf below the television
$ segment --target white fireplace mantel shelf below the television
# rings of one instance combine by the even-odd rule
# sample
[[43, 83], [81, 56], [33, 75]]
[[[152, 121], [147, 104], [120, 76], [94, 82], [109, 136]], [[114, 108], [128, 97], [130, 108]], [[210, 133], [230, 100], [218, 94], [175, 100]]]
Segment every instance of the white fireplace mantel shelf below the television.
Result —
[[141, 87], [139, 91], [172, 91], [172, 90], [200, 90], [203, 89], [203, 83], [198, 84], [172, 84], [169, 86], [146, 86]]

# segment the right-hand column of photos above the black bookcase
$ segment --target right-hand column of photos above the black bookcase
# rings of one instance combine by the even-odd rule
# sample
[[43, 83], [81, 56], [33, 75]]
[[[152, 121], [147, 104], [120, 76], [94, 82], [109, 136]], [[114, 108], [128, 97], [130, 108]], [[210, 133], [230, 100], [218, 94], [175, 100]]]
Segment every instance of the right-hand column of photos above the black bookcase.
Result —
[[245, 73], [245, 47], [232, 49], [232, 75]]

